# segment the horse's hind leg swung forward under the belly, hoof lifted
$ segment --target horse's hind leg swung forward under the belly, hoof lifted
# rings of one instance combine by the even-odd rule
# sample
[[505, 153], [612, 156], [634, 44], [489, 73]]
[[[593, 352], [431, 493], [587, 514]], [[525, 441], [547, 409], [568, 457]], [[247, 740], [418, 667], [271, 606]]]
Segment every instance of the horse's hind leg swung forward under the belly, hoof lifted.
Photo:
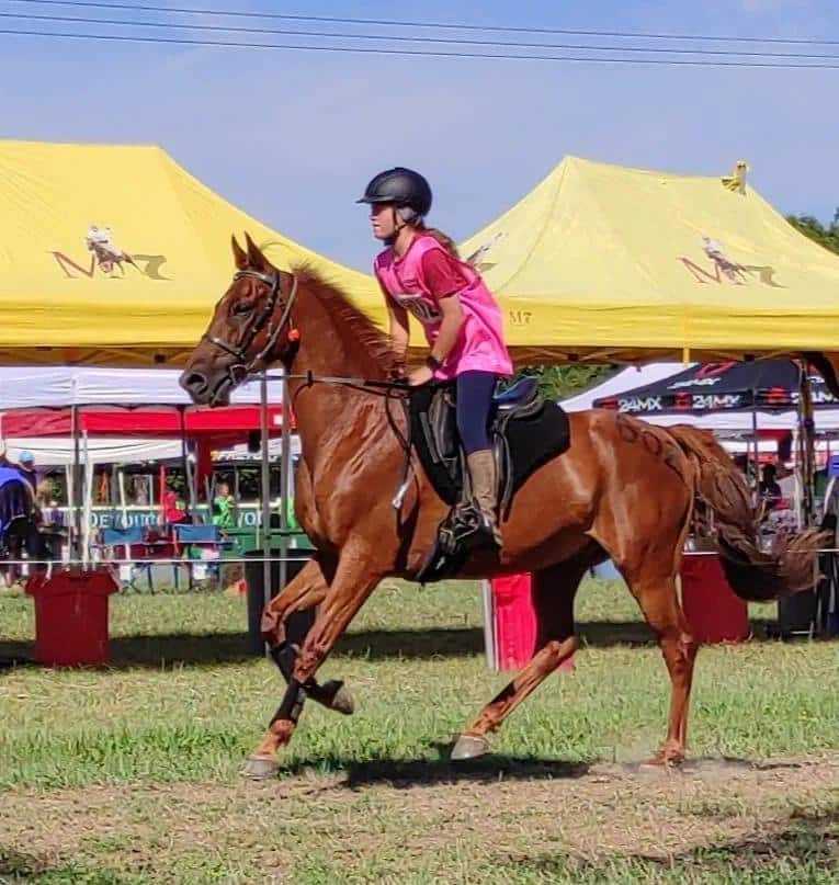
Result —
[[452, 759], [474, 759], [489, 751], [486, 736], [577, 649], [574, 598], [588, 564], [560, 563], [533, 575], [536, 650], [530, 663], [478, 714], [452, 749]]

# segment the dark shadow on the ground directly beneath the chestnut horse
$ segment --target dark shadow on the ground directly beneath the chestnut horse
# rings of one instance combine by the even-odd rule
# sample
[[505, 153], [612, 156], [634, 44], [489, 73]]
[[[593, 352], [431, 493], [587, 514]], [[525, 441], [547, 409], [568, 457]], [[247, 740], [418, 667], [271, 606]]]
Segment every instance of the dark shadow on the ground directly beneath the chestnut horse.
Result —
[[[360, 790], [375, 784], [397, 788], [430, 786], [434, 784], [478, 782], [496, 783], [503, 780], [559, 780], [582, 778], [589, 771], [586, 762], [565, 759], [533, 759], [489, 753], [467, 762], [452, 762], [449, 754], [452, 744], [436, 744], [436, 759], [372, 759], [358, 762], [339, 757], [301, 759], [284, 767], [284, 774], [302, 774], [325, 765], [331, 771], [345, 773], [338, 786]], [[331, 787], [335, 788], [335, 787]]]

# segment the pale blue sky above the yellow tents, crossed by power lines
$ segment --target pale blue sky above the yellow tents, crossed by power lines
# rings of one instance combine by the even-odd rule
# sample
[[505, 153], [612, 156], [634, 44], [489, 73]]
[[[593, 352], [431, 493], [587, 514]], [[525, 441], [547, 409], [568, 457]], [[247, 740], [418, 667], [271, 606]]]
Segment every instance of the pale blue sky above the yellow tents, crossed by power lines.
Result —
[[[157, 2], [839, 39], [836, 0]], [[0, 0], [0, 11], [26, 9], [61, 12]], [[839, 55], [839, 45], [809, 52]], [[839, 70], [408, 59], [0, 35], [0, 136], [160, 144], [251, 214], [365, 270], [375, 243], [353, 200], [374, 172], [396, 163], [429, 177], [432, 220], [456, 238], [491, 220], [565, 154], [703, 174], [726, 173], [742, 157], [751, 182], [781, 211], [829, 219], [839, 205]]]

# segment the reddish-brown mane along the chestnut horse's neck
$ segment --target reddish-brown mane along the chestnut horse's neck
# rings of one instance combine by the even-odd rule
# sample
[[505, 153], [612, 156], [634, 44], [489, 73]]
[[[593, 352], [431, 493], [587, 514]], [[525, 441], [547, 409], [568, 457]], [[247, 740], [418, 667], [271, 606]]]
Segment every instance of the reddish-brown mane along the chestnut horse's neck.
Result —
[[365, 376], [387, 377], [398, 362], [390, 337], [363, 314], [345, 292], [325, 280], [311, 266], [295, 268], [294, 273], [298, 285], [317, 297], [338, 320], [338, 334]]

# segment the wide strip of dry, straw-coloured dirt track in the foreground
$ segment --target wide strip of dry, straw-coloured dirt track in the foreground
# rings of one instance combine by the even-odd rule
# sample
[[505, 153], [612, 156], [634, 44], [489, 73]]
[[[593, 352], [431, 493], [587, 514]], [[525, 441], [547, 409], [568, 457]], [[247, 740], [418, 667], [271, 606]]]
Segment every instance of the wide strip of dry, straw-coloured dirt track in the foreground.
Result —
[[662, 864], [723, 856], [752, 869], [789, 852], [837, 870], [839, 753], [763, 764], [699, 760], [679, 772], [382, 762], [261, 784], [21, 791], [0, 795], [0, 847], [8, 856], [104, 863], [155, 882], [185, 881], [179, 863], [196, 852], [247, 861], [250, 872], [228, 871], [230, 882], [284, 881], [279, 871], [313, 856], [341, 870], [375, 862], [394, 874], [421, 861], [443, 875], [454, 855], [491, 858], [549, 878], [560, 873], [556, 858], [563, 869], [615, 855]]

